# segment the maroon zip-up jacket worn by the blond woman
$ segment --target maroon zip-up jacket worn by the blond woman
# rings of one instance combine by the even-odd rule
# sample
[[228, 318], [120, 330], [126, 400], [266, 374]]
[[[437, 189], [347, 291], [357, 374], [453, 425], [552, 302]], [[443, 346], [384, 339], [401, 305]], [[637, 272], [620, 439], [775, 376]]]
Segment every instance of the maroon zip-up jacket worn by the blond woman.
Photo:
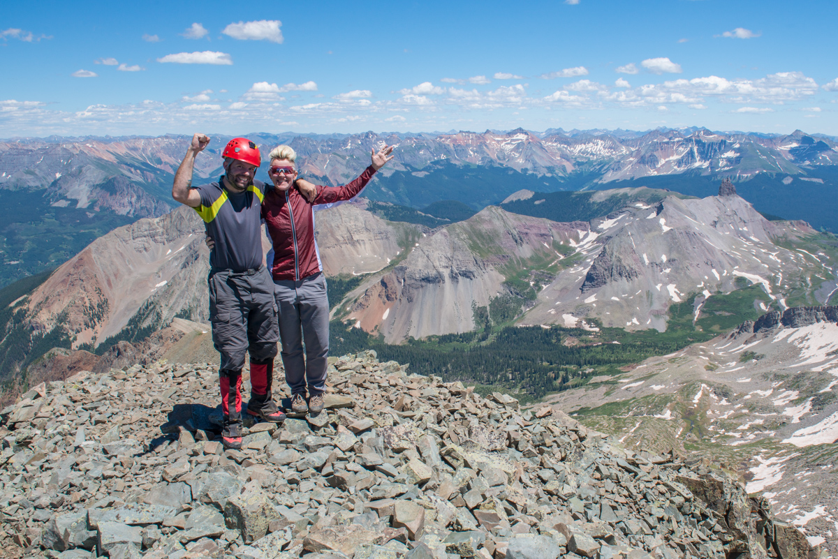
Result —
[[323, 271], [320, 251], [314, 240], [315, 209], [334, 208], [355, 197], [374, 174], [375, 169], [370, 166], [344, 187], [318, 186], [313, 203], [296, 188], [265, 192], [261, 217], [273, 245], [267, 254], [267, 266], [274, 280], [303, 280]]

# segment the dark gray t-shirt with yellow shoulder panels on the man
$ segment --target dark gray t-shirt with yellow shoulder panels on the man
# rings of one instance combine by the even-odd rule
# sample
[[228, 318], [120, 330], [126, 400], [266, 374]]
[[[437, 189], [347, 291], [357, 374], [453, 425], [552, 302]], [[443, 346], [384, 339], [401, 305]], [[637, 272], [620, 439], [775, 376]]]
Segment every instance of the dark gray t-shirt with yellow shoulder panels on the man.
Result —
[[195, 208], [204, 220], [207, 234], [215, 241], [209, 254], [213, 269], [244, 271], [265, 263], [261, 251], [261, 201], [266, 185], [253, 181], [245, 192], [230, 192], [218, 182], [194, 187], [201, 195]]

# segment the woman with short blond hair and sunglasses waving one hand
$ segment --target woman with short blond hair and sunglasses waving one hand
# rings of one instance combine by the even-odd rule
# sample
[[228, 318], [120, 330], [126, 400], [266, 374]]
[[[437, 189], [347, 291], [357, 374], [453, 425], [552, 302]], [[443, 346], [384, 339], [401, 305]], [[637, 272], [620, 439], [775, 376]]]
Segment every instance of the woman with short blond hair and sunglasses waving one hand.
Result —
[[295, 151], [290, 146], [277, 146], [271, 151], [268, 176], [274, 188], [265, 194], [261, 217], [273, 244], [267, 254], [267, 267], [279, 307], [282, 364], [294, 413], [322, 411], [326, 391], [328, 298], [314, 240], [314, 210], [332, 208], [357, 196], [375, 172], [393, 158], [392, 151], [393, 146], [373, 150], [372, 163], [360, 177], [344, 187], [318, 186], [312, 202], [293, 188], [297, 180]]

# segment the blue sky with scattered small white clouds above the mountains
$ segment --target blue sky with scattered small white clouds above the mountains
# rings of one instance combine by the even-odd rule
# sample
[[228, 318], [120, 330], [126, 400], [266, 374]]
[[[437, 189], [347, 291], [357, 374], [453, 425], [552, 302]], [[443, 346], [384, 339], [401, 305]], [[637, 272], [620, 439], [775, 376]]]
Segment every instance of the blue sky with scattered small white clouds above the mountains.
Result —
[[836, 12], [735, 0], [6, 3], [0, 137], [518, 126], [838, 136]]

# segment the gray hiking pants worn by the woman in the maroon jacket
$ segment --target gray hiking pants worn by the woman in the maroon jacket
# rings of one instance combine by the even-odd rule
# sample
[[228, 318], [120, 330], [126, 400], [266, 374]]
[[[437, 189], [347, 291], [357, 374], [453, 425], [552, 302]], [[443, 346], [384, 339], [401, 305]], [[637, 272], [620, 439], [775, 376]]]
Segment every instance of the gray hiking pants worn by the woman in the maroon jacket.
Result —
[[[282, 364], [292, 394], [326, 391], [328, 297], [322, 273], [303, 280], [273, 280], [279, 306]], [[303, 359], [303, 341], [305, 358]]]

